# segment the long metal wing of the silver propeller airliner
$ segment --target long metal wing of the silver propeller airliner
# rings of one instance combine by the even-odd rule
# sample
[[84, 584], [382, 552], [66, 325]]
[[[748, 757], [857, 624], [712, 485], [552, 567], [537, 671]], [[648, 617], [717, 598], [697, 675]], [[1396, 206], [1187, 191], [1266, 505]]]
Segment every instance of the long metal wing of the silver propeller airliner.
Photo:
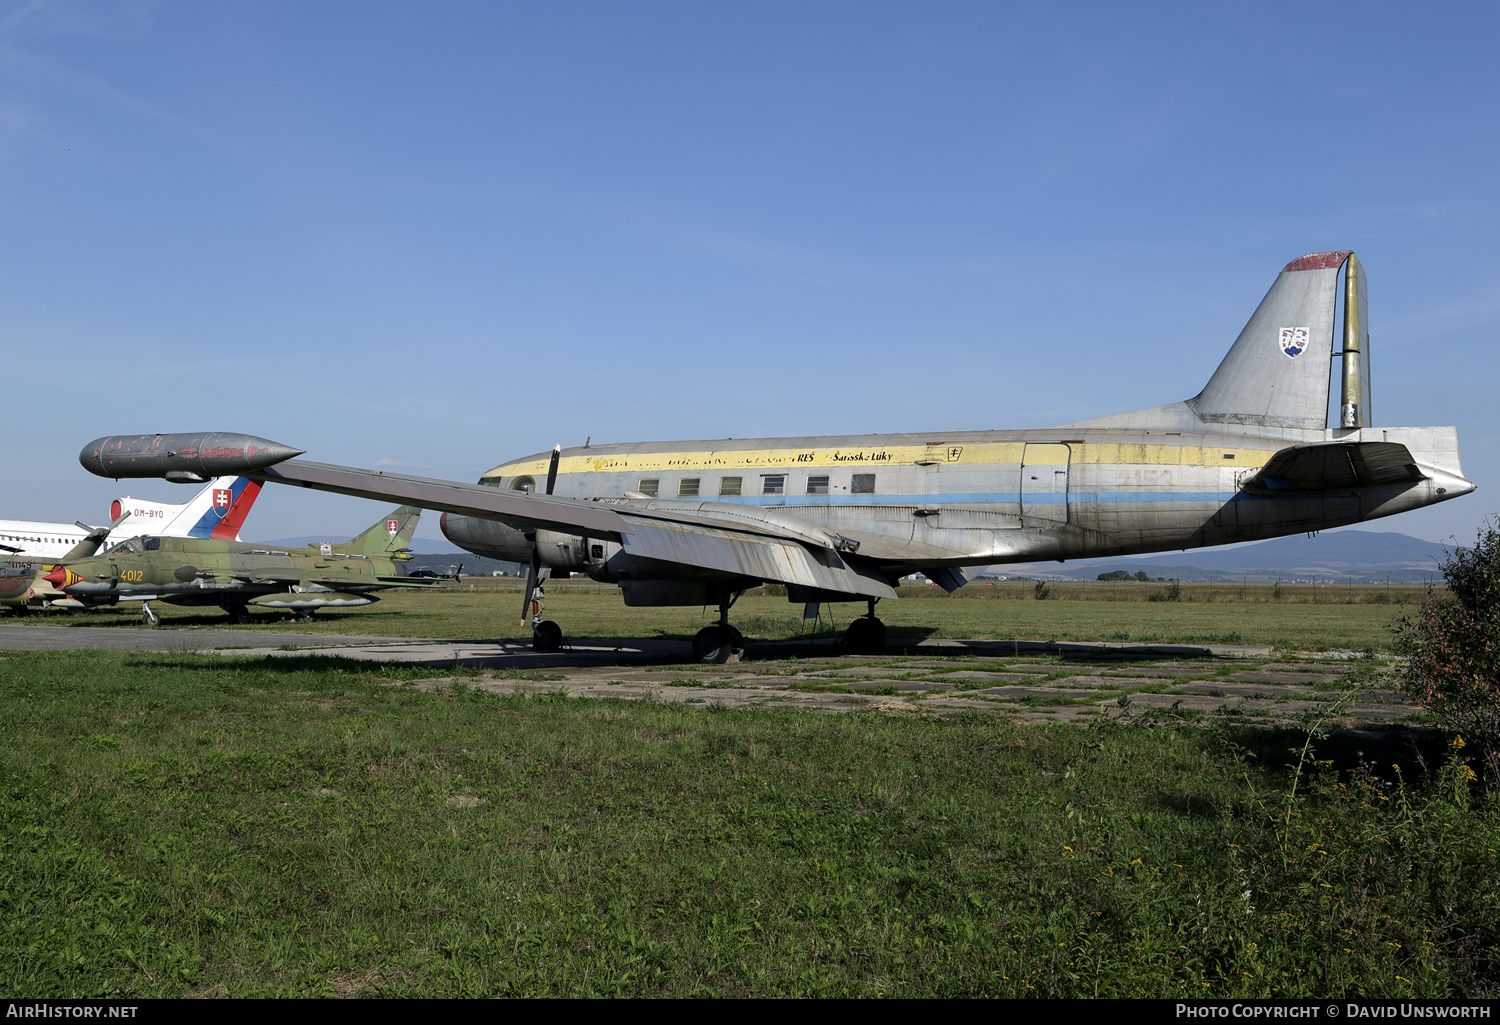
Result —
[[772, 524], [692, 509], [644, 509], [558, 498], [303, 459], [288, 459], [248, 476], [356, 498], [498, 519], [514, 527], [586, 534], [620, 542], [626, 551], [642, 558], [738, 576], [868, 597], [896, 596], [872, 560], [838, 551], [844, 539], [813, 524]]

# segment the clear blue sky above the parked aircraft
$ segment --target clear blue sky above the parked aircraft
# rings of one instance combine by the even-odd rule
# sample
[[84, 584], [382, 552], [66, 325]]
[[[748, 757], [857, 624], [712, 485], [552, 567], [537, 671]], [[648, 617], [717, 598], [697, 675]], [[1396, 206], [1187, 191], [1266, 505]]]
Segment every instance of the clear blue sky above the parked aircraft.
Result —
[[[1496, 510], [1500, 8], [0, 3], [0, 516], [248, 431], [476, 479], [554, 441], [1035, 428], [1198, 392], [1293, 257]], [[1500, 498], [1494, 500], [1500, 501]], [[382, 506], [267, 489], [246, 537]], [[420, 531], [436, 536], [435, 516]]]

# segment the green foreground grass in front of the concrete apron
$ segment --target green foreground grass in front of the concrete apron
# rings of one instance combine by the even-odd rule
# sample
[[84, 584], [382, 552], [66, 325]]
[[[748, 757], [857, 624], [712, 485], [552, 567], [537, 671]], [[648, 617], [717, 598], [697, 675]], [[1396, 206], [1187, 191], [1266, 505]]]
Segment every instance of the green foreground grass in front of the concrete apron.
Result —
[[1212, 719], [429, 693], [298, 656], [0, 665], [15, 996], [1497, 990], [1497, 809], [1440, 750], [1372, 773], [1328, 741], [1293, 782], [1300, 734]]

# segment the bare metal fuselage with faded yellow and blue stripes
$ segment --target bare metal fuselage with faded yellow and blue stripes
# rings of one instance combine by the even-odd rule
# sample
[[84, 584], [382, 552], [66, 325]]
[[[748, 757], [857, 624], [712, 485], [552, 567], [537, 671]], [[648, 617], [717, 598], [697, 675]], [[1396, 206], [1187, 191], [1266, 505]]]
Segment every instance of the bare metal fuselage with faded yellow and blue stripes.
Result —
[[[1260, 540], [1473, 491], [1452, 428], [1204, 426], [1176, 404], [1044, 431], [594, 446], [562, 452], [554, 494], [609, 501], [622, 512], [804, 524], [849, 539], [849, 551], [880, 560], [888, 573], [906, 573]], [[1330, 443], [1404, 446], [1412, 473], [1394, 482], [1350, 473], [1293, 486], [1268, 486], [1258, 476], [1278, 452]], [[502, 464], [483, 483], [534, 486], [548, 458]], [[856, 474], [864, 477], [858, 485]], [[656, 498], [640, 495], [652, 489]], [[453, 515], [444, 518], [444, 533], [470, 551], [514, 561], [531, 558], [534, 537], [543, 563], [602, 581], [702, 575], [658, 560], [645, 564], [618, 543], [582, 534], [524, 533]]]

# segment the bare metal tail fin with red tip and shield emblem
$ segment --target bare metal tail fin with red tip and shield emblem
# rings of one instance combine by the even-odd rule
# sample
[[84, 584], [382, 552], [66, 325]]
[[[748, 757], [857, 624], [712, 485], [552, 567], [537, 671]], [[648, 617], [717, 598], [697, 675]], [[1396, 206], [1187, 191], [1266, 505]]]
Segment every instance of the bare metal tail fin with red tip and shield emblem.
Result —
[[[1365, 272], [1353, 255], [1348, 251], [1316, 252], [1281, 270], [1208, 386], [1188, 399], [1200, 420], [1314, 431], [1328, 426], [1334, 312], [1340, 269], [1346, 263], [1356, 275], [1359, 342], [1368, 338]], [[1364, 380], [1359, 426], [1370, 426], [1368, 345], [1352, 345], [1346, 339], [1336, 351], [1346, 348], [1364, 353], [1358, 368]]]

